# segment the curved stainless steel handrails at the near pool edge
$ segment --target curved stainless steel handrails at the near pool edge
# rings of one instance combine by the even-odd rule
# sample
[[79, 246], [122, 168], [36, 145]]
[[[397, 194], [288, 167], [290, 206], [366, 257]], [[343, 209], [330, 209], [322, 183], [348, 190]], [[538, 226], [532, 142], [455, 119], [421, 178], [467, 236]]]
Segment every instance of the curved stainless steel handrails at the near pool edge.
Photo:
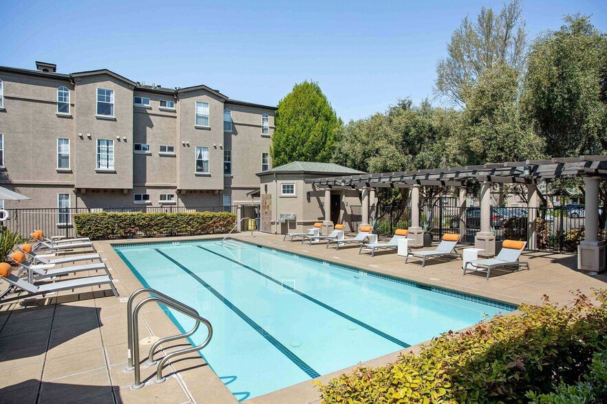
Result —
[[[149, 293], [150, 297], [140, 301], [133, 309], [133, 303], [135, 301], [135, 298], [141, 293]], [[131, 386], [131, 389], [134, 390], [142, 388], [144, 385], [144, 383], [141, 383], [141, 363], [139, 360], [139, 312], [141, 311], [141, 308], [149, 302], [158, 302], [160, 304], [164, 304], [164, 306], [173, 308], [176, 311], [196, 320], [194, 328], [192, 328], [189, 332], [173, 335], [171, 337], [160, 338], [158, 339], [158, 341], [152, 344], [151, 348], [149, 349], [149, 354], [147, 355], [147, 362], [145, 364], [147, 366], [154, 366], [156, 365], [156, 363], [158, 363], [158, 367], [156, 368], [156, 383], [162, 383], [165, 380], [164, 377], [162, 377], [162, 368], [164, 368], [164, 364], [167, 363], [167, 361], [179, 355], [184, 355], [189, 352], [201, 350], [209, 344], [209, 341], [211, 341], [211, 337], [213, 337], [213, 327], [211, 326], [211, 323], [204, 317], [201, 317], [200, 314], [198, 314], [198, 311], [195, 310], [195, 308], [187, 306], [186, 304], [183, 304], [182, 302], [179, 302], [178, 300], [175, 300], [165, 295], [164, 293], [160, 293], [156, 289], [142, 288], [138, 291], [134, 291], [134, 293], [129, 297], [129, 301], [127, 302], [127, 337], [129, 339], [127, 341], [127, 345], [129, 362], [126, 368], [126, 370], [135, 370], [135, 383]], [[164, 342], [175, 341], [175, 339], [190, 337], [198, 330], [198, 327], [201, 323], [206, 326], [207, 330], [209, 330], [209, 335], [202, 342], [202, 344], [195, 346], [190, 341], [190, 343], [192, 344], [191, 347], [171, 352], [168, 355], [162, 357], [159, 362], [154, 360], [154, 353], [158, 346], [164, 344]]]

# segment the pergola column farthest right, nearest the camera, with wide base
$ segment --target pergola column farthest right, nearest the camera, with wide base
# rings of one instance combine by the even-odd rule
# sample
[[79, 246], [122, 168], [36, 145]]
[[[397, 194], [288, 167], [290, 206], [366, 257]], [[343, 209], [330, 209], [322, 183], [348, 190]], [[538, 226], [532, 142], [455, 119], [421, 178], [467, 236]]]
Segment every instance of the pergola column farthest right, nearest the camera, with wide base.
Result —
[[577, 246], [577, 269], [596, 275], [605, 270], [605, 243], [599, 240], [599, 179], [584, 178], [584, 240]]

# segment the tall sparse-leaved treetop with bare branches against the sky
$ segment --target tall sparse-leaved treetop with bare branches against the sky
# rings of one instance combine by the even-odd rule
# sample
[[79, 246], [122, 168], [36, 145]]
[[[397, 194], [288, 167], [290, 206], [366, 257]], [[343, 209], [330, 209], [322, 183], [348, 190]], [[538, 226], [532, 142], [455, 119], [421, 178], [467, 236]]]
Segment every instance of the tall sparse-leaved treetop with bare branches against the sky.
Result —
[[464, 106], [462, 93], [485, 70], [498, 64], [521, 69], [526, 47], [524, 28], [518, 0], [504, 5], [499, 14], [483, 7], [476, 23], [466, 16], [451, 35], [447, 45], [449, 56], [438, 60], [436, 65], [436, 93]]

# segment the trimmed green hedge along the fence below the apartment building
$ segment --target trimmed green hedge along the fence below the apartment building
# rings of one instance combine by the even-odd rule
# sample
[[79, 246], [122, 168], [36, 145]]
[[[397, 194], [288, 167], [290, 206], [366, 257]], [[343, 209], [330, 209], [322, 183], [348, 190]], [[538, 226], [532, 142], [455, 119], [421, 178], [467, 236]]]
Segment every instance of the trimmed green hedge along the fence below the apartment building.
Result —
[[74, 215], [78, 236], [92, 240], [135, 236], [184, 236], [226, 233], [234, 226], [230, 212], [83, 213]]

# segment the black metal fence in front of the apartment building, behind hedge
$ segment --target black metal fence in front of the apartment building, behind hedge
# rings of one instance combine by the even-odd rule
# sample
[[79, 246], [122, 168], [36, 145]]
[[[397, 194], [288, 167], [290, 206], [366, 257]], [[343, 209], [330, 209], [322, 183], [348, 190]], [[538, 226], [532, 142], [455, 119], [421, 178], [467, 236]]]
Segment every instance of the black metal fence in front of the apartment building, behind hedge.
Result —
[[72, 221], [75, 214], [117, 212], [117, 213], [178, 213], [178, 212], [237, 212], [237, 206], [141, 206], [141, 207], [70, 207], [49, 209], [7, 209], [8, 220], [4, 225], [13, 232], [28, 236], [41, 229], [50, 236], [76, 237]]

